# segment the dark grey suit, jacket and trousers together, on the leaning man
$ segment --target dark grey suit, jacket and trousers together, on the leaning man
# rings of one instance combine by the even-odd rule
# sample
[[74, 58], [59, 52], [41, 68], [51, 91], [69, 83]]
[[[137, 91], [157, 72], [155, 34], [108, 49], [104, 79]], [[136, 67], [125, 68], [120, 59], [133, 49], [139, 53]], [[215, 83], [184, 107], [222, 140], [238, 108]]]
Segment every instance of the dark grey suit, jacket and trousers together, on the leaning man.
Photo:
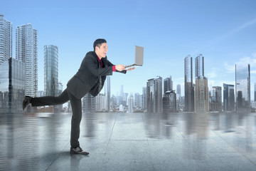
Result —
[[[107, 56], [102, 58], [102, 62], [104, 63], [104, 68], [101, 67], [96, 53], [94, 51], [88, 52], [82, 60], [78, 72], [68, 81], [67, 88], [63, 93], [58, 97], [31, 98], [32, 106], [59, 105], [70, 100], [73, 110], [70, 136], [70, 145], [72, 147], [79, 145], [80, 121], [82, 119], [81, 98], [88, 92], [96, 96], [104, 86], [106, 77], [112, 76], [113, 64], [107, 60]], [[126, 73], [126, 71], [121, 71], [121, 73]]]

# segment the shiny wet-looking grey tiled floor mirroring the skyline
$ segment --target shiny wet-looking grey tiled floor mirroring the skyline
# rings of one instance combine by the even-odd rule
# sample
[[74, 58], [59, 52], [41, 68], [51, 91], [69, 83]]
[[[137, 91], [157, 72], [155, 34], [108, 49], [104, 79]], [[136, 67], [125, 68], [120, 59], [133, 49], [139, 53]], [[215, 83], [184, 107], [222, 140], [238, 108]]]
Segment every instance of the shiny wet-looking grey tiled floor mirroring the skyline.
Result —
[[1, 113], [0, 170], [256, 170], [256, 115]]

